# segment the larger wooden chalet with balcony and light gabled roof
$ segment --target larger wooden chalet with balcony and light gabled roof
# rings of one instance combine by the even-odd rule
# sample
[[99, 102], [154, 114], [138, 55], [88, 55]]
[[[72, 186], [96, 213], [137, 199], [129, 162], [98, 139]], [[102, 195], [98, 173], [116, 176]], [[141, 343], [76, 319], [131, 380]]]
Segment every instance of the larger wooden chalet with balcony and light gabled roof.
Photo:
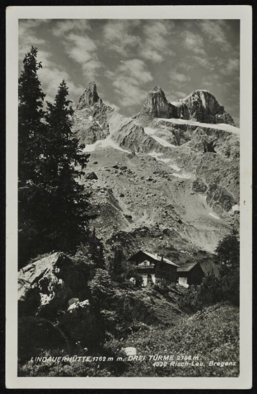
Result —
[[136, 264], [137, 271], [143, 279], [143, 287], [149, 283], [156, 285], [176, 283], [178, 266], [168, 258], [140, 250], [127, 260]]

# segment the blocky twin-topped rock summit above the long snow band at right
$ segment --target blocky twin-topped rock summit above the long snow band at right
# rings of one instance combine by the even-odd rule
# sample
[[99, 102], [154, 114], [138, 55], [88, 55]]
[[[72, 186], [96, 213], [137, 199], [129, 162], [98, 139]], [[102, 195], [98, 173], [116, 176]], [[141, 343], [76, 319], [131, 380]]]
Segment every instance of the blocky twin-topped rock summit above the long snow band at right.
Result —
[[169, 102], [163, 90], [159, 86], [155, 86], [149, 91], [139, 115], [235, 125], [232, 117], [215, 97], [208, 90], [201, 89], [194, 90], [184, 99]]

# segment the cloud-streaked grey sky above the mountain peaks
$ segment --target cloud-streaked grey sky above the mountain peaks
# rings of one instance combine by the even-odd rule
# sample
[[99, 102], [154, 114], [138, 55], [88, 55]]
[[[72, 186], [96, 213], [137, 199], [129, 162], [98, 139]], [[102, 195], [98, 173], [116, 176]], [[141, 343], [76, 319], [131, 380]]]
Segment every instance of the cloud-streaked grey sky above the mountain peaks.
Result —
[[206, 89], [239, 126], [239, 20], [20, 20], [19, 73], [32, 45], [48, 101], [63, 79], [75, 104], [95, 81], [104, 103], [133, 116], [154, 86], [169, 101]]

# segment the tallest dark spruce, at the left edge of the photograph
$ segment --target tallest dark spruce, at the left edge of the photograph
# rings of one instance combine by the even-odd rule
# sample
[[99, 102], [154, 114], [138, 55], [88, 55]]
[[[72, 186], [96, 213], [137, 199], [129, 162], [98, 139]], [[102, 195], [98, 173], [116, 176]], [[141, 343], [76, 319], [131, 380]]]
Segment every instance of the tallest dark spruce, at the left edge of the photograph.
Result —
[[36, 184], [40, 182], [40, 154], [46, 129], [41, 121], [44, 117], [45, 95], [37, 75], [37, 71], [42, 67], [41, 63], [36, 61], [37, 52], [38, 49], [32, 47], [26, 54], [18, 87], [19, 267], [41, 250], [40, 242], [35, 241], [39, 237], [40, 220], [39, 203], [36, 201], [44, 191], [40, 191]]

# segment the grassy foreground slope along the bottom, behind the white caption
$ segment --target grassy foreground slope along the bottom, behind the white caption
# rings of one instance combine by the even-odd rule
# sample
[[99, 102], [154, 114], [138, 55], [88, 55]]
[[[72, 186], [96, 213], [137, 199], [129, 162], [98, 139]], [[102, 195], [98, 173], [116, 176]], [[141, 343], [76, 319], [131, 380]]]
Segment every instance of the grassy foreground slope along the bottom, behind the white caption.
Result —
[[[153, 361], [116, 362], [122, 348], [135, 347], [137, 355], [198, 356], [203, 366], [154, 366]], [[57, 354], [56, 354], [57, 353]], [[77, 352], [78, 355], [89, 355]], [[20, 376], [123, 376], [123, 377], [236, 377], [239, 373], [239, 310], [226, 304], [216, 304], [191, 317], [181, 316], [175, 326], [145, 326], [126, 337], [111, 338], [99, 355], [114, 356], [114, 361], [90, 363], [32, 363], [20, 367]], [[64, 355], [51, 352], [49, 355]], [[72, 354], [74, 355], [74, 354]], [[93, 354], [92, 354], [93, 355]], [[94, 354], [96, 355], [96, 354]], [[236, 366], [209, 366], [210, 361], [235, 362]], [[191, 363], [192, 361], [188, 361]], [[196, 361], [194, 362], [196, 364]]]

